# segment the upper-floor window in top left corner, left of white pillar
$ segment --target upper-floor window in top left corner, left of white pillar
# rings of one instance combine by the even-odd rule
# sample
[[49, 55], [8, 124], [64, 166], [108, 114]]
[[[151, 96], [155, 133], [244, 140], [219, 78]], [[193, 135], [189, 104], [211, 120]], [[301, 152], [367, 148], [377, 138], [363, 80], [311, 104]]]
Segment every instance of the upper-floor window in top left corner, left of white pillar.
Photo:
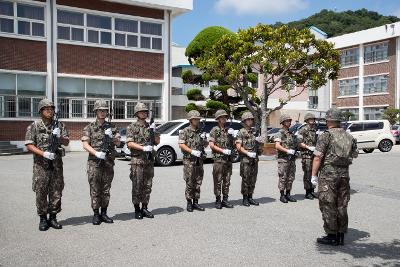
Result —
[[45, 36], [44, 7], [0, 0], [0, 33]]

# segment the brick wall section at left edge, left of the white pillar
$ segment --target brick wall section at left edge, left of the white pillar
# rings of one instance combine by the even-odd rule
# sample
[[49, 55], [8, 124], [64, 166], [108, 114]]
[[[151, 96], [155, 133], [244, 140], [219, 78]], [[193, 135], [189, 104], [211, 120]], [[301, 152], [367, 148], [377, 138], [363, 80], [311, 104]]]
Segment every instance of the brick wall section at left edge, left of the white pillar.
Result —
[[0, 69], [46, 72], [46, 42], [0, 37]]

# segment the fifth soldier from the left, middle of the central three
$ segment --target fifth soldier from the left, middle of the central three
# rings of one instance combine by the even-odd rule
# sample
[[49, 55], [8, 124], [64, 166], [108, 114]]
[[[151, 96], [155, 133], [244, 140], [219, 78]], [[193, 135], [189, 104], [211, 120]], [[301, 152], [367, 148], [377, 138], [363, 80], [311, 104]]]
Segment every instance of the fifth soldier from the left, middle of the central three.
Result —
[[[231, 153], [233, 149], [233, 135], [235, 131], [225, 126], [228, 114], [225, 110], [218, 110], [215, 113], [215, 120], [218, 125], [211, 129], [208, 139], [210, 148], [213, 151], [214, 165], [214, 194], [216, 197], [215, 208], [233, 208], [229, 203], [229, 186], [232, 175]], [[221, 186], [223, 199], [221, 202]]]

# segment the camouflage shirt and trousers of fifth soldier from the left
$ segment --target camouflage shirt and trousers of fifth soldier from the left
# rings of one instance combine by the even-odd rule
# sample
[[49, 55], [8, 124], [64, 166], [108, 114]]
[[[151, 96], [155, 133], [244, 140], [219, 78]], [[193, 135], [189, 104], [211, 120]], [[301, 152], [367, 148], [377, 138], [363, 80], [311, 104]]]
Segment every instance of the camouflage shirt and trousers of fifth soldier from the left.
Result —
[[[227, 128], [215, 126], [211, 129], [209, 141], [214, 142], [218, 147], [232, 150], [233, 144], [231, 139]], [[213, 152], [213, 158], [214, 194], [217, 197], [221, 196], [222, 184], [222, 194], [228, 196], [231, 184], [232, 161], [230, 156], [216, 152]]]

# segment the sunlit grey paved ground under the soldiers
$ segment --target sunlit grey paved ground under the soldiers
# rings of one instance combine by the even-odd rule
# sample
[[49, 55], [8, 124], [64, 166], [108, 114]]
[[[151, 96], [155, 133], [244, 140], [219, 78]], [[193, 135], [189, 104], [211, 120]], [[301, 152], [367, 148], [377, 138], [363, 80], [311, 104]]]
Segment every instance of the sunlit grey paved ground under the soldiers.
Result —
[[85, 153], [64, 158], [63, 230], [38, 231], [31, 190], [32, 156], [0, 157], [0, 266], [400, 266], [400, 146], [360, 154], [351, 167], [349, 233], [344, 247], [315, 243], [323, 234], [316, 200], [304, 200], [297, 161], [297, 203], [278, 199], [276, 161], [260, 162], [255, 198], [240, 205], [234, 165], [234, 209], [216, 210], [212, 164], [206, 164], [200, 202], [185, 208], [182, 165], [155, 169], [150, 208], [154, 219], [133, 219], [127, 161], [117, 160], [109, 213], [112, 225], [91, 224]]

